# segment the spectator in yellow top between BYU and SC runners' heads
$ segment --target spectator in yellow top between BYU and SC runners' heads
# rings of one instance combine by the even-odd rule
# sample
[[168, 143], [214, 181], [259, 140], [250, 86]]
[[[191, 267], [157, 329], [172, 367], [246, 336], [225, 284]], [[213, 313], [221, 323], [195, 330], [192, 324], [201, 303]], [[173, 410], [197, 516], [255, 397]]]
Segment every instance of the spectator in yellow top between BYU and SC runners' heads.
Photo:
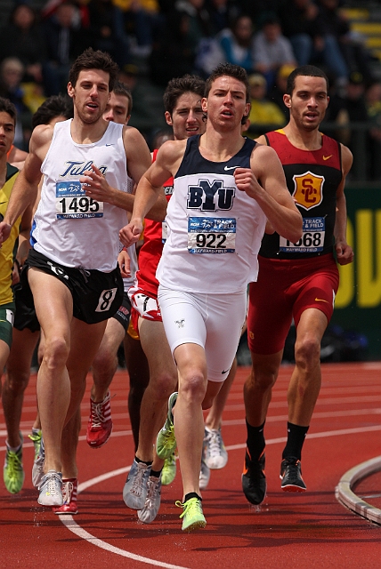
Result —
[[257, 138], [264, 132], [275, 130], [286, 124], [286, 116], [278, 105], [266, 99], [266, 79], [263, 75], [255, 73], [248, 76], [250, 85], [250, 130], [248, 136]]

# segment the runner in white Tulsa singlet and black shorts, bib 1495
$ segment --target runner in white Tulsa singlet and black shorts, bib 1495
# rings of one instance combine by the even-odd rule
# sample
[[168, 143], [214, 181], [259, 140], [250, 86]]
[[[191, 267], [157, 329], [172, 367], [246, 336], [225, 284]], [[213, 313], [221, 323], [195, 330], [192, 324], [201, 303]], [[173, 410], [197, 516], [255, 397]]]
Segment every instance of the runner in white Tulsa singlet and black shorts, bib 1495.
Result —
[[3, 242], [20, 212], [35, 201], [43, 172], [27, 266], [45, 335], [37, 378], [45, 441], [38, 503], [44, 506], [62, 505], [62, 429], [77, 412], [107, 319], [122, 300], [116, 229], [126, 220], [133, 180], [140, 180], [150, 164], [139, 132], [102, 118], [117, 73], [107, 53], [89, 48], [77, 58], [68, 84], [74, 118], [32, 133], [28, 158], [0, 224]]

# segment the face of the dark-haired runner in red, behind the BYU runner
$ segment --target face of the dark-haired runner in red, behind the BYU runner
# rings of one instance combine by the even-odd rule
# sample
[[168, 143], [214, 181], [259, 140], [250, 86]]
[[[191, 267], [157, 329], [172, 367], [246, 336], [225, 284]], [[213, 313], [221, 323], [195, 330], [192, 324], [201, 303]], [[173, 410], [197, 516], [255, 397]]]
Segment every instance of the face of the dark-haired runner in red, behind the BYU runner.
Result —
[[174, 129], [174, 140], [189, 139], [194, 134], [203, 134], [201, 98], [197, 93], [184, 92], [177, 100], [172, 116], [166, 111], [166, 123]]

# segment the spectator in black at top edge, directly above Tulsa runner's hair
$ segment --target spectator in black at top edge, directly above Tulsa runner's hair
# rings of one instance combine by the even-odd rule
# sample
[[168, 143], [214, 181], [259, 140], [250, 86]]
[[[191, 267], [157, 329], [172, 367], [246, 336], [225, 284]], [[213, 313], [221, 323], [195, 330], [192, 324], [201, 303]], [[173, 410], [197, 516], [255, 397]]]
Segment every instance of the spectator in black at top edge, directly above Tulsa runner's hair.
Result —
[[122, 68], [130, 60], [130, 50], [120, 8], [113, 4], [113, 0], [90, 0], [87, 8], [93, 49], [109, 52]]

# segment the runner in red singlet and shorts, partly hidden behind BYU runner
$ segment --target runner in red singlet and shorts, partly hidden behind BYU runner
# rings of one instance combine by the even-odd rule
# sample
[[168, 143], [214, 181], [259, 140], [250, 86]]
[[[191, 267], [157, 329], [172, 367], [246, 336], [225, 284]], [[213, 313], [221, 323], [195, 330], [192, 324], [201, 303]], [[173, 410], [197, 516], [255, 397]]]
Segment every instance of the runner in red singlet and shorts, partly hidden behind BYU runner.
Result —
[[[164, 93], [166, 123], [172, 126], [174, 140], [184, 140], [205, 131], [201, 99], [205, 83], [197, 76], [172, 79]], [[158, 150], [154, 151], [156, 159]], [[172, 196], [174, 180], [165, 180], [166, 199]], [[130, 290], [132, 319], [139, 329], [142, 348], [150, 365], [150, 383], [142, 398], [139, 445], [128, 474], [123, 498], [129, 508], [138, 510], [145, 523], [152, 522], [160, 506], [161, 484], [170, 484], [175, 475], [173, 454], [163, 461], [153, 456], [153, 442], [166, 417], [166, 401], [177, 383], [177, 372], [158, 308], [156, 269], [166, 240], [166, 223], [146, 220], [144, 242], [139, 253], [137, 282]], [[152, 462], [153, 461], [153, 462]], [[163, 469], [163, 472], [161, 470]]]

